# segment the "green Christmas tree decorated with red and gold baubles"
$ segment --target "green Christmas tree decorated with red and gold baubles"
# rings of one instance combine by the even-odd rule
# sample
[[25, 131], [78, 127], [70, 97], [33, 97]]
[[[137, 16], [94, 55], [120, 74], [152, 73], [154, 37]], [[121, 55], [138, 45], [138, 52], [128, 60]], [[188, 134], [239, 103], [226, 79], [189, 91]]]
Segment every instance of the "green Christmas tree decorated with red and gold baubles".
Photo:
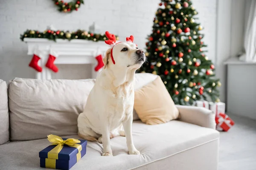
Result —
[[146, 63], [139, 72], [159, 75], [175, 104], [192, 105], [195, 100], [218, 102], [214, 65], [205, 55], [203, 27], [190, 0], [161, 0], [153, 32], [146, 42]]

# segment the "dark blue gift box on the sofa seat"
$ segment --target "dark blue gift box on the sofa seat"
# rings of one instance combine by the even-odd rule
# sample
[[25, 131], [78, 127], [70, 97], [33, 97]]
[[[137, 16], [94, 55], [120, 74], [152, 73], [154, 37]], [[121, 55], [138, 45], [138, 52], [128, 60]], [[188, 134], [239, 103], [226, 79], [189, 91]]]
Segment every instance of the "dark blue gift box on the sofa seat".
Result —
[[[67, 140], [66, 138], [62, 138], [63, 140]], [[81, 147], [81, 157], [83, 157], [86, 153], [86, 145], [87, 140], [80, 140]], [[55, 148], [57, 145], [50, 145], [46, 147], [44, 150], [41, 150], [39, 152], [40, 157], [40, 167], [47, 167], [47, 168], [53, 168], [53, 169], [60, 169], [60, 170], [69, 170], [71, 167], [73, 167], [74, 164], [76, 164], [77, 161], [80, 159], [80, 153], [78, 148], [76, 147], [70, 147], [66, 144], [63, 145], [63, 148], [58, 153], [58, 159], [49, 159], [48, 153], [50, 150]], [[77, 156], [79, 155], [79, 156]]]

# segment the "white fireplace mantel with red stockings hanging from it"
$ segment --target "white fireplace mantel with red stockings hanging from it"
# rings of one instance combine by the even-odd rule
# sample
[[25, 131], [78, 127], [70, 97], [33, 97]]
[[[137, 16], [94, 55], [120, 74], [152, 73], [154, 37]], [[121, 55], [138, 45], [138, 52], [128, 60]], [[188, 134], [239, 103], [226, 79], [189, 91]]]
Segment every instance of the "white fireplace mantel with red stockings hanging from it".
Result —
[[45, 67], [49, 57], [50, 48], [58, 52], [59, 57], [56, 58], [55, 64], [91, 64], [92, 75], [91, 78], [96, 78], [98, 72], [94, 71], [97, 65], [95, 59], [96, 53], [102, 54], [104, 57], [105, 52], [108, 50], [108, 45], [104, 41], [89, 41], [89, 40], [62, 40], [56, 41], [48, 40], [45, 38], [24, 38], [24, 42], [28, 45], [28, 55], [34, 54], [34, 50], [38, 48], [41, 51], [40, 60], [38, 65], [43, 68], [42, 72], [38, 72], [37, 79], [51, 79], [51, 74], [54, 74], [50, 69]]

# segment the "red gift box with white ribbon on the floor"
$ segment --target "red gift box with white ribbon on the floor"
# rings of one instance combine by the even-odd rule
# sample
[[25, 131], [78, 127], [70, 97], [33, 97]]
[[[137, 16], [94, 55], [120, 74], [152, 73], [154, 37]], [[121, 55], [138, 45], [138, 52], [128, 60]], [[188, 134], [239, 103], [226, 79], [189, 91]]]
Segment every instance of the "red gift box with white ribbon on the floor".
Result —
[[232, 119], [230, 119], [230, 117], [227, 116], [225, 113], [219, 113], [215, 117], [215, 121], [217, 124], [216, 129], [223, 130], [225, 132], [227, 132], [230, 129], [230, 127], [235, 125], [235, 122]]

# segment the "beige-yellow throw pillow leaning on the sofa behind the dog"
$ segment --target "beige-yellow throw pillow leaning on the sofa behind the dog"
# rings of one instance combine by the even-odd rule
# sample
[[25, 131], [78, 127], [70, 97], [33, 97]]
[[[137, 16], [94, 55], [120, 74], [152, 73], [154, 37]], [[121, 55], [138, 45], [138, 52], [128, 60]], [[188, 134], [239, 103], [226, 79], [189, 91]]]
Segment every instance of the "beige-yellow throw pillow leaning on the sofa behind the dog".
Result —
[[134, 109], [141, 121], [148, 125], [166, 123], [179, 116], [179, 111], [160, 77], [135, 91]]

